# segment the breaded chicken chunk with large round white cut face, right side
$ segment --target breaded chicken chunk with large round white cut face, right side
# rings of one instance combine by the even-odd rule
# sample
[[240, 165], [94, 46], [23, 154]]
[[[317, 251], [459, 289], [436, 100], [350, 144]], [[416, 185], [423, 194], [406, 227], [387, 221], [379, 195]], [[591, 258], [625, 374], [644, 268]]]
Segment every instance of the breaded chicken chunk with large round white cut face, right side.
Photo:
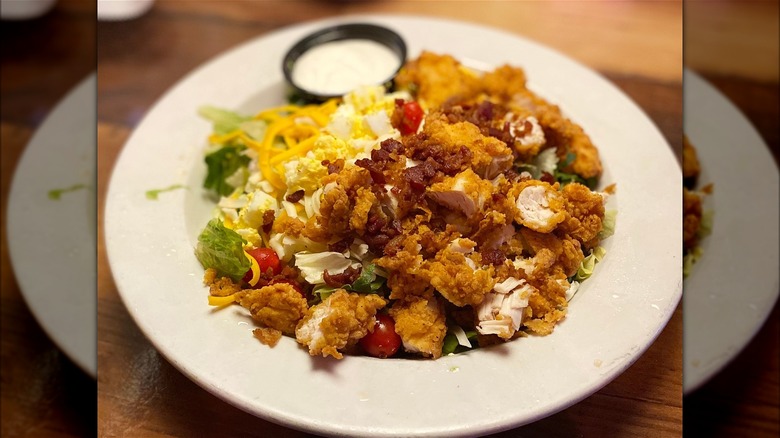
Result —
[[565, 199], [556, 186], [539, 180], [516, 183], [509, 197], [514, 199], [517, 223], [540, 233], [549, 233], [566, 220]]

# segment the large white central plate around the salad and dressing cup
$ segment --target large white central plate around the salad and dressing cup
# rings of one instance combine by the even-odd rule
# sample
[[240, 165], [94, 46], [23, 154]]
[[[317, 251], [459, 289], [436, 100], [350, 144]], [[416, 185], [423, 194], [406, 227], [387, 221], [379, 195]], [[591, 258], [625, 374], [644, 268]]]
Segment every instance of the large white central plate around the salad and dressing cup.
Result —
[[[202, 196], [209, 124], [204, 104], [254, 112], [284, 98], [281, 60], [298, 39], [337, 22], [389, 26], [422, 49], [471, 65], [511, 62], [560, 103], [601, 148], [617, 181], [616, 234], [606, 259], [551, 336], [429, 360], [312, 358], [293, 339], [251, 335], [238, 307], [206, 304], [196, 238], [214, 206]], [[490, 44], [486, 44], [490, 42]], [[145, 199], [148, 189], [188, 190]], [[631, 365], [682, 293], [679, 166], [642, 111], [593, 71], [531, 41], [470, 24], [415, 17], [342, 17], [287, 28], [237, 47], [176, 84], [122, 151], [106, 203], [106, 248], [141, 330], [184, 374], [270, 421], [318, 434], [475, 435], [528, 423], [587, 397]], [[650, 189], [652, 188], [652, 189]], [[425, 415], [421, 415], [421, 410]]]

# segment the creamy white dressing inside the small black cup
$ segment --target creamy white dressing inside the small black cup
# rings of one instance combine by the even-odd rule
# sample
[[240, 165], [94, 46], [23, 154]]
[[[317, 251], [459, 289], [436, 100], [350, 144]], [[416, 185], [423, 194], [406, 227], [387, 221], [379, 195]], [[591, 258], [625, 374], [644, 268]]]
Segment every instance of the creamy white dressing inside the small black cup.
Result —
[[295, 63], [292, 80], [312, 93], [344, 94], [387, 81], [400, 63], [395, 52], [375, 41], [333, 41], [304, 52]]

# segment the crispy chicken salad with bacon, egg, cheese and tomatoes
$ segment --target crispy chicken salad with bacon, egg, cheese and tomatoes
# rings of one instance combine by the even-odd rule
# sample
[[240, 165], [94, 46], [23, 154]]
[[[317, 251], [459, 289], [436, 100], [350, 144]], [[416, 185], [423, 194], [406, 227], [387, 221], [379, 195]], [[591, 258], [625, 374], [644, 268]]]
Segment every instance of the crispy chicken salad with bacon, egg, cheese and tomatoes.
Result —
[[200, 113], [209, 304], [266, 345], [435, 359], [550, 334], [615, 225], [596, 146], [517, 67], [423, 52], [392, 90]]

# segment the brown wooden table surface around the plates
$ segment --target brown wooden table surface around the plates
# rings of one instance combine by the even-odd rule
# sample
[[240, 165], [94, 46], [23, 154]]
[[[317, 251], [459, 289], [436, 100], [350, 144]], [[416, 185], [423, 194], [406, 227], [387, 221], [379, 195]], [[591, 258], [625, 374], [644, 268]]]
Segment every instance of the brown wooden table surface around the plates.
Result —
[[[11, 26], [3, 22], [4, 45], [12, 50], [4, 47], [3, 52], [2, 233], [11, 175], [24, 145], [57, 100], [95, 68], [95, 57], [101, 232], [104, 196], [116, 158], [168, 88], [237, 44], [286, 25], [342, 14], [443, 17], [536, 40], [603, 74], [642, 107], [675, 152], [681, 147], [680, 2], [157, 0], [146, 15], [100, 22], [96, 31], [94, 6], [90, 10], [85, 3], [89, 2], [61, 0], [42, 19]], [[733, 10], [734, 2], [724, 3]], [[754, 27], [771, 32], [767, 17], [772, 18], [777, 2], [763, 3], [740, 12], [743, 29], [757, 20], [761, 24]], [[728, 23], [713, 16], [698, 21], [724, 22]], [[44, 31], [50, 32], [49, 38], [37, 36]], [[48, 44], [41, 44], [43, 53], [33, 56], [20, 35]], [[90, 39], [96, 41], [96, 51], [94, 45], [82, 47], [89, 47]], [[740, 41], [732, 45], [743, 50], [745, 45], [767, 45], [751, 36]], [[699, 71], [755, 121], [777, 158], [776, 72], [773, 76], [763, 59], [744, 57], [747, 65], [735, 69], [706, 55], [696, 56]], [[59, 62], [56, 69], [53, 60]], [[2, 436], [308, 436], [221, 401], [162, 358], [122, 304], [102, 238], [97, 248], [97, 382], [57, 350], [27, 310], [10, 270], [5, 234], [0, 251]], [[683, 427], [691, 436], [775, 436], [780, 421], [778, 320], [775, 308], [745, 351], [683, 401], [683, 321], [678, 307], [655, 343], [613, 382], [568, 409], [497, 436], [666, 437], [680, 436]]]

